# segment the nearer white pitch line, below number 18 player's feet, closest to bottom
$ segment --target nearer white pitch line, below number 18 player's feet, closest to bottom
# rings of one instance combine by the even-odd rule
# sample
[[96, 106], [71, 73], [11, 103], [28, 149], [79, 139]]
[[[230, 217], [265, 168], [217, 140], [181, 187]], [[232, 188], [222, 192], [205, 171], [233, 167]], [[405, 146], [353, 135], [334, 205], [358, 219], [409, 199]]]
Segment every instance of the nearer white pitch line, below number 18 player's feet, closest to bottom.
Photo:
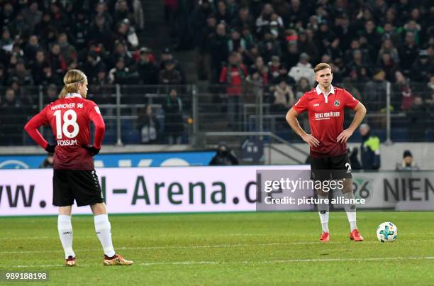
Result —
[[[137, 263], [139, 266], [155, 265], [226, 265], [226, 264], [272, 264], [272, 263], [303, 263], [303, 262], [345, 262], [345, 261], [384, 261], [384, 260], [433, 260], [434, 256], [421, 257], [367, 257], [367, 258], [311, 258], [288, 260], [262, 260], [262, 261], [174, 261]], [[87, 265], [89, 266], [89, 265]], [[14, 265], [11, 268], [57, 268], [64, 265]]]

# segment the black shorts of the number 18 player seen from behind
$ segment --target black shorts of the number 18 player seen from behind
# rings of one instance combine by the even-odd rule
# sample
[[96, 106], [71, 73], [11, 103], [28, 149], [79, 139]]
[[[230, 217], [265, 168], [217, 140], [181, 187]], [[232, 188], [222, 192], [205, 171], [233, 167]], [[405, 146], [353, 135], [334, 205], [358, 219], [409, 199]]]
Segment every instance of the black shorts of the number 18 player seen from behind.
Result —
[[95, 170], [54, 170], [52, 204], [78, 207], [104, 202]]

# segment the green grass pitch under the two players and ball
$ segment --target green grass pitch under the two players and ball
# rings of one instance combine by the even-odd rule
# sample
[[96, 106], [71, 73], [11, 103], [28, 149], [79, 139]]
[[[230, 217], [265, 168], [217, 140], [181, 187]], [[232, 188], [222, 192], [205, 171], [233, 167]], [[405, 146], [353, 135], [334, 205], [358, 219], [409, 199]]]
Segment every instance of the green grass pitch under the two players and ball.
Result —
[[[77, 267], [63, 266], [57, 217], [0, 218], [0, 272], [48, 271], [48, 282], [0, 285], [433, 285], [434, 214], [362, 212], [362, 243], [345, 213], [330, 214], [330, 242], [317, 213], [113, 215], [113, 244], [135, 261], [106, 267], [91, 216], [73, 216]], [[383, 221], [399, 230], [380, 243]]]

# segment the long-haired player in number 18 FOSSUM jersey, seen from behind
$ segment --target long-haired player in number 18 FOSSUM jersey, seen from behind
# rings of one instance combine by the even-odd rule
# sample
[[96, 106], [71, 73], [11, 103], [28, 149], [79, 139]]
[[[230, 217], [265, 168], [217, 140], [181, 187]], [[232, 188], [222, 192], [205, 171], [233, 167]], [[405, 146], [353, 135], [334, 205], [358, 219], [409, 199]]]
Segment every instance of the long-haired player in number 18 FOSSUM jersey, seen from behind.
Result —
[[[105, 125], [98, 106], [87, 100], [87, 77], [80, 70], [69, 70], [63, 78], [65, 87], [56, 101], [48, 104], [26, 124], [26, 131], [40, 147], [54, 153], [52, 204], [59, 207], [57, 229], [65, 250], [67, 266], [75, 266], [72, 250], [72, 204], [90, 205], [94, 214], [96, 236], [104, 249], [104, 265], [131, 265], [116, 254], [111, 243], [111, 224], [104, 204], [92, 156], [99, 153]], [[90, 145], [90, 121], [95, 126], [94, 145]], [[50, 145], [38, 128], [50, 124], [56, 144]]]

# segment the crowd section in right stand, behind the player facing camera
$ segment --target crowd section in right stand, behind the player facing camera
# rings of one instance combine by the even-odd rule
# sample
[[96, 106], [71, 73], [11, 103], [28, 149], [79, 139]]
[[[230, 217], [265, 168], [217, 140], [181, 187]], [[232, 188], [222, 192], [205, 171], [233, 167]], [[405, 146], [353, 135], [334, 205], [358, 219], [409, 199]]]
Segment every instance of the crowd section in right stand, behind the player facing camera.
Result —
[[[178, 2], [188, 2], [179, 0]], [[200, 0], [184, 15], [199, 50], [198, 76], [228, 84], [239, 102], [241, 82], [262, 84], [277, 113], [316, 85], [313, 65], [327, 62], [335, 84], [369, 113], [406, 114], [423, 140], [433, 120], [434, 6], [424, 0]], [[180, 25], [179, 27], [184, 27]], [[229, 71], [229, 72], [228, 72]], [[372, 122], [384, 126], [382, 122]]]

